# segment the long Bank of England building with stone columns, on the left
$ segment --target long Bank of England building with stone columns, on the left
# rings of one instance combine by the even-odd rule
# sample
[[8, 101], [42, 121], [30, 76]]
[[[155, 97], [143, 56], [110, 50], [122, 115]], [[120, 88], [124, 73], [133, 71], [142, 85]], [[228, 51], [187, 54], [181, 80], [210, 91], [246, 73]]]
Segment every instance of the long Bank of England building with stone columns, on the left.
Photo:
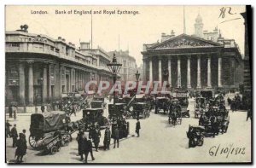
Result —
[[18, 30], [5, 33], [6, 106], [37, 106], [61, 98], [63, 93], [84, 92], [90, 80], [110, 80], [110, 56], [102, 49], [76, 49], [64, 38], [49, 38]]

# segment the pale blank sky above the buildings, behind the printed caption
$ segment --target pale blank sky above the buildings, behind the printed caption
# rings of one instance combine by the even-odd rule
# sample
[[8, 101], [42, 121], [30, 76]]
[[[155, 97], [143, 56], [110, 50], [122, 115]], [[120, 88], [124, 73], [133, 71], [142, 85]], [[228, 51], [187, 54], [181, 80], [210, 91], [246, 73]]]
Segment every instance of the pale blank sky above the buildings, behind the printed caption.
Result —
[[[226, 10], [221, 13], [223, 7]], [[203, 30], [212, 32], [218, 26], [222, 36], [235, 39], [241, 55], [244, 54], [244, 20], [240, 13], [245, 11], [245, 6], [184, 6], [184, 9], [186, 34], [194, 34], [195, 18], [201, 14]], [[47, 14], [32, 14], [40, 10]], [[66, 11], [66, 14], [56, 14], [55, 10]], [[70, 10], [72, 14], [68, 14]], [[28, 32], [55, 39], [61, 36], [78, 48], [79, 41], [90, 42], [91, 14], [75, 14], [75, 10], [102, 11], [102, 14], [92, 14], [93, 48], [129, 49], [138, 66], [143, 63], [143, 43], [160, 41], [162, 32], [183, 33], [183, 6], [6, 6], [5, 30], [15, 31], [27, 24]], [[115, 10], [115, 14], [103, 14], [104, 10]], [[137, 11], [138, 14], [118, 14], [118, 10]]]

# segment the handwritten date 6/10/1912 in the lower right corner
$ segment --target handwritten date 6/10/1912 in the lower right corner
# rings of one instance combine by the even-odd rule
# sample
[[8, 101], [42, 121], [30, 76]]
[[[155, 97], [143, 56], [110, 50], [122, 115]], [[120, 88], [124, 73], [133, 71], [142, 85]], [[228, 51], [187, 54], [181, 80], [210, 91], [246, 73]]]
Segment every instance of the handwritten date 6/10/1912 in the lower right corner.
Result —
[[233, 143], [229, 146], [222, 146], [221, 144], [219, 144], [218, 146], [212, 146], [209, 149], [209, 154], [210, 156], [223, 155], [226, 158], [229, 158], [229, 155], [245, 154], [245, 149], [246, 148], [244, 147], [234, 147]]

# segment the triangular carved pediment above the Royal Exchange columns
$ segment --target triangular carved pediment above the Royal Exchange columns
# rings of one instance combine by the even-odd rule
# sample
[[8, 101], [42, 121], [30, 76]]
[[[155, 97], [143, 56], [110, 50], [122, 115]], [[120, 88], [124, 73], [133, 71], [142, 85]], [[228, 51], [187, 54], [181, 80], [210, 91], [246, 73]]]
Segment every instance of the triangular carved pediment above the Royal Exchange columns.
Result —
[[215, 43], [203, 38], [196, 38], [186, 34], [168, 39], [164, 42], [157, 43], [148, 49], [182, 49], [182, 48], [205, 48], [205, 47], [221, 47], [219, 43]]

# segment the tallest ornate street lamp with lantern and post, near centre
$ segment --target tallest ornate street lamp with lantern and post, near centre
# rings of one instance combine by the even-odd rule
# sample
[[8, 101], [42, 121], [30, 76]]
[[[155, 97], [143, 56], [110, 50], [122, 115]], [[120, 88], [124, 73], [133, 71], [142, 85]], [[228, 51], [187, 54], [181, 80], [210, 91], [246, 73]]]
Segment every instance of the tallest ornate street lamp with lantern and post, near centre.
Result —
[[[115, 84], [118, 73], [120, 68], [122, 67], [122, 64], [119, 64], [116, 60], [115, 54], [113, 53], [113, 61], [109, 64], [107, 64], [108, 69], [110, 72], [112, 72], [113, 75], [113, 85]], [[115, 113], [115, 91], [113, 90], [113, 113]]]

